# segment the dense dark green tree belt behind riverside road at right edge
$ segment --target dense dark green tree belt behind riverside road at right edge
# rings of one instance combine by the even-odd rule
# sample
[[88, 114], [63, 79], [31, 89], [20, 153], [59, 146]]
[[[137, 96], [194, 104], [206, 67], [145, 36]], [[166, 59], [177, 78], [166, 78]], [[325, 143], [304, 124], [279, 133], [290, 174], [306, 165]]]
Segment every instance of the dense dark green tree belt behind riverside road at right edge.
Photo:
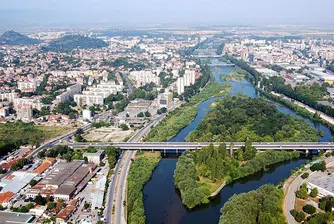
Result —
[[295, 88], [292, 88], [291, 85], [284, 84], [284, 79], [282, 77], [271, 77], [269, 79], [263, 78], [262, 84], [267, 91], [275, 91], [284, 94], [287, 97], [298, 100], [329, 116], [334, 116], [333, 108], [317, 102], [327, 95], [326, 89], [329, 86], [327, 83], [324, 83], [321, 86], [314, 83], [311, 87], [296, 86]]

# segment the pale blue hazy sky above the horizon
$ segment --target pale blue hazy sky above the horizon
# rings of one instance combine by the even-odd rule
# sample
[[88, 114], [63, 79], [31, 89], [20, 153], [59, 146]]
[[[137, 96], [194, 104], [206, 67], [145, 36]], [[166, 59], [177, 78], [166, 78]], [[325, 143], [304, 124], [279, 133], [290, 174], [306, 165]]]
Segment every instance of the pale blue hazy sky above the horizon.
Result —
[[334, 0], [0, 0], [0, 25], [332, 25], [333, 9]]

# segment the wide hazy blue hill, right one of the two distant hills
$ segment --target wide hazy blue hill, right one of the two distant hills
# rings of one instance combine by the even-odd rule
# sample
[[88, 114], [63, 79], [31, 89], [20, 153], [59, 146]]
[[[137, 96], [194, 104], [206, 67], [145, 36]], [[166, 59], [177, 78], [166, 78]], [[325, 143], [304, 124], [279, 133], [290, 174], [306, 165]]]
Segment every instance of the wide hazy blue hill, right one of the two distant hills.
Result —
[[49, 51], [71, 51], [76, 48], [102, 48], [107, 47], [108, 43], [103, 40], [85, 37], [81, 35], [67, 35], [57, 40], [51, 41], [48, 46], [44, 47]]

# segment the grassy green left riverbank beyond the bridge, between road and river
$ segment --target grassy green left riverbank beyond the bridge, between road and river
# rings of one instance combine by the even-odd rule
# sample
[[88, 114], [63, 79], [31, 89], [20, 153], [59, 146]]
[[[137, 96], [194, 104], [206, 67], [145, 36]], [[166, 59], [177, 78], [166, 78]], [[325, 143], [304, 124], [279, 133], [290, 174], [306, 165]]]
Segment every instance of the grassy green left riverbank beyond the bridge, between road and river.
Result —
[[[213, 78], [212, 78], [213, 79]], [[207, 99], [222, 96], [230, 91], [230, 85], [210, 81], [204, 89], [190, 98], [189, 102], [170, 112], [157, 126], [152, 128], [145, 141], [165, 142], [176, 136], [197, 115], [199, 104]]]

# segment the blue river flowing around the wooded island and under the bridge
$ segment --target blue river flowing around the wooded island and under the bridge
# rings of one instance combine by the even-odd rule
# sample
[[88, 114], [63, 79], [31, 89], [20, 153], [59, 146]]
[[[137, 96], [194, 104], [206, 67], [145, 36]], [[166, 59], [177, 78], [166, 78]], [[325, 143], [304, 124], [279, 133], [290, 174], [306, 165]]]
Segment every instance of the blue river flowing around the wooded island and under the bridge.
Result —
[[[227, 74], [231, 69], [231, 67], [211, 67], [211, 71], [217, 82], [222, 82], [220, 74]], [[228, 82], [232, 86], [230, 92], [231, 95], [242, 93], [252, 98], [259, 97], [259, 94], [255, 90], [254, 86], [245, 79], [241, 82]], [[219, 98], [221, 97], [211, 98], [202, 102], [198, 106], [198, 114], [194, 121], [182, 129], [178, 135], [170, 139], [170, 141], [184, 141], [184, 138], [197, 127], [199, 122], [210, 110], [210, 104]], [[319, 141], [331, 141], [331, 131], [326, 126], [313, 123], [311, 120], [297, 115], [294, 111], [283, 105], [274, 102], [269, 103], [275, 105], [280, 112], [304, 119], [313, 128], [323, 131], [324, 136], [319, 136]], [[177, 158], [176, 156], [165, 157], [160, 161], [157, 168], [153, 172], [151, 180], [143, 189], [146, 223], [217, 224], [220, 217], [220, 209], [232, 195], [255, 190], [263, 184], [277, 184], [287, 178], [291, 170], [302, 165], [305, 161], [305, 159], [297, 159], [276, 164], [269, 167], [269, 169], [265, 172], [259, 172], [244, 179], [234, 181], [232, 184], [225, 186], [209, 204], [201, 205], [192, 210], [188, 210], [182, 204], [178, 190], [174, 188], [173, 174]]]

